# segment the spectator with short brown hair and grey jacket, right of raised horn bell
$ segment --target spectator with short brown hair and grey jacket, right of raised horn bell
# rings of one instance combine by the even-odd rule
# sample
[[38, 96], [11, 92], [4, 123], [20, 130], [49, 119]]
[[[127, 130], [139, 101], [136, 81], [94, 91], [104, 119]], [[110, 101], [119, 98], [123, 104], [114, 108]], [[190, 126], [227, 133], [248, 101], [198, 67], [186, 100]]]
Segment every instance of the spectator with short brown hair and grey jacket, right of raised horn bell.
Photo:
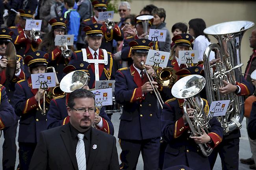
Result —
[[166, 28], [166, 13], [165, 9], [163, 8], [155, 8], [152, 11], [152, 15], [154, 16], [153, 26], [152, 29], [160, 29], [160, 30], [166, 30], [166, 39], [165, 42], [156, 41], [155, 47], [158, 46], [158, 49], [160, 51], [170, 52], [171, 51], [171, 35], [170, 31]]

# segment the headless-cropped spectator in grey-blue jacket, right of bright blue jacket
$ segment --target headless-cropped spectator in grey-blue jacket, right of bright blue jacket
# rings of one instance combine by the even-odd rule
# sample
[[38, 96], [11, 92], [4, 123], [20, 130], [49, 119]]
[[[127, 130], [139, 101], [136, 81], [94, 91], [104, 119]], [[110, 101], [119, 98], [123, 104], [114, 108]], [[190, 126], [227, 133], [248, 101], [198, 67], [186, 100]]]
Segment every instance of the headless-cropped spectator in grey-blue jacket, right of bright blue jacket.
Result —
[[79, 0], [77, 2], [77, 6], [77, 12], [81, 17], [81, 20], [85, 20], [93, 16], [93, 6], [91, 4], [91, 0]]

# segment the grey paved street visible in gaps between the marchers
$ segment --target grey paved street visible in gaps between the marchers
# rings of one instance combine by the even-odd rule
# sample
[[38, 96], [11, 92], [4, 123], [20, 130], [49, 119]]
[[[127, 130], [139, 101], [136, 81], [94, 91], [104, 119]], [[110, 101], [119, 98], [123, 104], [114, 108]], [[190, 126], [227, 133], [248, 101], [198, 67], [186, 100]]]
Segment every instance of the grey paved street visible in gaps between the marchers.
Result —
[[[119, 117], [120, 117], [120, 113], [115, 113], [112, 116], [112, 122], [115, 128], [115, 137], [117, 138], [117, 134], [118, 134], [118, 128], [119, 128]], [[4, 141], [4, 137], [2, 134], [2, 137], [0, 138], [0, 145], [2, 146]], [[18, 143], [17, 143], [18, 144]], [[0, 160], [2, 160], [2, 147], [0, 148]], [[118, 139], [117, 139], [117, 152], [118, 154], [121, 153], [121, 148], [119, 146], [118, 143]], [[230, 155], [232, 155], [232, 153], [230, 153]], [[248, 136], [247, 136], [247, 131], [246, 131], [246, 127], [245, 127], [245, 119], [242, 122], [242, 128], [241, 128], [241, 138], [240, 138], [240, 150], [239, 150], [239, 158], [249, 158], [251, 157], [251, 152], [250, 152], [250, 146], [249, 146], [249, 140], [248, 140]], [[17, 158], [18, 158], [18, 152], [17, 152]], [[119, 160], [120, 161], [120, 160]], [[18, 164], [18, 160], [16, 160], [16, 167]], [[2, 169], [2, 161], [0, 161], [0, 169]], [[139, 161], [137, 164], [137, 170], [143, 170], [143, 160], [142, 157], [139, 157]], [[221, 160], [217, 159], [214, 169], [213, 170], [221, 170]], [[239, 164], [239, 170], [249, 170], [249, 165], [245, 165], [245, 164]]]

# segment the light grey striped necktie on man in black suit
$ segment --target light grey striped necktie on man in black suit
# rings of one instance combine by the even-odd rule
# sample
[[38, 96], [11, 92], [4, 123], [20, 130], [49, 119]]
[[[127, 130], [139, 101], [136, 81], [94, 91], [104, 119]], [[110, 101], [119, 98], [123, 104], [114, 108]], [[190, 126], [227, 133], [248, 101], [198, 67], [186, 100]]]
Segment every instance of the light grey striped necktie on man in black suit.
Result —
[[86, 170], [86, 157], [85, 157], [85, 148], [82, 133], [78, 133], [78, 143], [76, 145], [76, 161], [78, 165], [78, 170]]

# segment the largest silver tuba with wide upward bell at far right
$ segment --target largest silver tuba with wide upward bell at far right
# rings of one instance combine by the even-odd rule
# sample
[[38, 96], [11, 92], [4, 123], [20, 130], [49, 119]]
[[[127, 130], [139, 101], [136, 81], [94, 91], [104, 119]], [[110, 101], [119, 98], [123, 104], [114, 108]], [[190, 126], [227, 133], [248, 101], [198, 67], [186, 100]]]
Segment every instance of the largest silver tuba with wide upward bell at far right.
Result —
[[[222, 95], [219, 87], [224, 87], [223, 80], [233, 85], [241, 82], [241, 39], [246, 30], [254, 26], [250, 21], [232, 21], [216, 24], [206, 28], [204, 33], [212, 35], [219, 44], [210, 44], [204, 52], [204, 72], [206, 79], [206, 94], [209, 105], [212, 101], [230, 100], [225, 116], [219, 116], [218, 121], [224, 129], [224, 135], [241, 128], [244, 116], [243, 96], [235, 93]], [[221, 62], [210, 66], [209, 55], [215, 51], [215, 58]], [[211, 70], [214, 70], [211, 73]]]

